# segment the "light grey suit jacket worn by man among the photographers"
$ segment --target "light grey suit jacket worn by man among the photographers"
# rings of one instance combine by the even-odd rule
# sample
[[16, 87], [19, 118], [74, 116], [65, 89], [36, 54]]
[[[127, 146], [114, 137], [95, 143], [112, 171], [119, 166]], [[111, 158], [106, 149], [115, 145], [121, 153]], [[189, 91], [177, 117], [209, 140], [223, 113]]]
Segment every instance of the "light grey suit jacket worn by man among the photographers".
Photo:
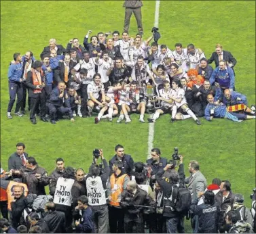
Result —
[[191, 177], [192, 177], [192, 174], [190, 175], [190, 177], [187, 177], [185, 179], [185, 183], [187, 184], [187, 189], [189, 189], [192, 195], [192, 202], [193, 202], [198, 197], [198, 193], [200, 191], [203, 192], [206, 189], [207, 182], [202, 172], [200, 172], [200, 170], [196, 172], [193, 178]]

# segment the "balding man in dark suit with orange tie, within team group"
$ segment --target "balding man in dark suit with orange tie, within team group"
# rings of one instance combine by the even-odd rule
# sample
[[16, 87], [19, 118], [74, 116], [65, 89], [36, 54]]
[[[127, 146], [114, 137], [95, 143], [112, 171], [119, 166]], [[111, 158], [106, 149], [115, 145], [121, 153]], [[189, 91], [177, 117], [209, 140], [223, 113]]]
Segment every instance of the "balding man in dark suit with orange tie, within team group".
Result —
[[64, 61], [58, 62], [58, 68], [54, 70], [54, 82], [56, 84], [64, 82], [67, 87], [71, 83], [71, 56], [69, 53], [65, 54]]

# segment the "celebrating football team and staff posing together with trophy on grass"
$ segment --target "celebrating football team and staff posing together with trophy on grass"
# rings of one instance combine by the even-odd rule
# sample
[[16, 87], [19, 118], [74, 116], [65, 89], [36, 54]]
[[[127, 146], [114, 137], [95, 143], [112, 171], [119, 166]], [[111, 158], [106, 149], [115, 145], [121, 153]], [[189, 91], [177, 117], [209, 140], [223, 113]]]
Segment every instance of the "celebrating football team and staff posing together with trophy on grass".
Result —
[[[171, 122], [199, 117], [206, 120], [227, 118], [240, 122], [255, 119], [255, 106], [249, 107], [246, 96], [235, 91], [236, 59], [220, 44], [207, 60], [204, 52], [193, 44], [175, 49], [158, 45], [160, 33], [143, 41], [128, 32], [98, 32], [90, 37], [89, 30], [82, 46], [73, 38], [67, 47], [50, 39], [40, 58], [32, 51], [22, 56], [14, 53], [8, 79], [10, 102], [7, 118], [17, 96], [15, 115], [26, 112], [26, 96], [32, 124], [36, 116], [43, 122], [56, 122], [67, 116], [91, 117], [94, 122], [118, 116], [117, 122], [131, 122], [130, 114], [152, 113], [148, 122], [156, 122], [162, 114], [171, 114]], [[149, 42], [154, 41], [149, 45]], [[209, 64], [215, 62], [215, 69]]]

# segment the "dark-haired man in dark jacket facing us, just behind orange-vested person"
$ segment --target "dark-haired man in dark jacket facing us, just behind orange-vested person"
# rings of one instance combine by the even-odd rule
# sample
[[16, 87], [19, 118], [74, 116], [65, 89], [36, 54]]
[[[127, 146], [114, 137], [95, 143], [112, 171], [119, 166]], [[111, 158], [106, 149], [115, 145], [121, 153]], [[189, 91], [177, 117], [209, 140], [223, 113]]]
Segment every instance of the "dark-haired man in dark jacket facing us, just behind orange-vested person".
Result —
[[130, 173], [132, 172], [133, 166], [134, 166], [134, 161], [132, 159], [132, 156], [130, 154], [124, 154], [124, 146], [122, 145], [116, 145], [115, 146], [115, 156], [109, 160], [109, 168], [113, 172], [113, 164], [116, 160], [121, 161], [123, 164], [122, 170], [126, 174], [130, 176]]

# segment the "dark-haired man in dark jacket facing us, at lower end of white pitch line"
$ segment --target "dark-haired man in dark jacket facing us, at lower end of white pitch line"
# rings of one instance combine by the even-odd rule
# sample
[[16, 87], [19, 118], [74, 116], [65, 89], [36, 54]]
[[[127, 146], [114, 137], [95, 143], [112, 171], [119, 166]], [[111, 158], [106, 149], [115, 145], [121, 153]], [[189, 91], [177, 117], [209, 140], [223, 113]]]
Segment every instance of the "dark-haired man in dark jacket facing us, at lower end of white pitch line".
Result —
[[149, 184], [153, 187], [153, 184], [156, 183], [156, 174], [166, 166], [167, 159], [161, 158], [160, 149], [153, 148], [151, 149], [151, 158], [146, 163], [151, 168]]

